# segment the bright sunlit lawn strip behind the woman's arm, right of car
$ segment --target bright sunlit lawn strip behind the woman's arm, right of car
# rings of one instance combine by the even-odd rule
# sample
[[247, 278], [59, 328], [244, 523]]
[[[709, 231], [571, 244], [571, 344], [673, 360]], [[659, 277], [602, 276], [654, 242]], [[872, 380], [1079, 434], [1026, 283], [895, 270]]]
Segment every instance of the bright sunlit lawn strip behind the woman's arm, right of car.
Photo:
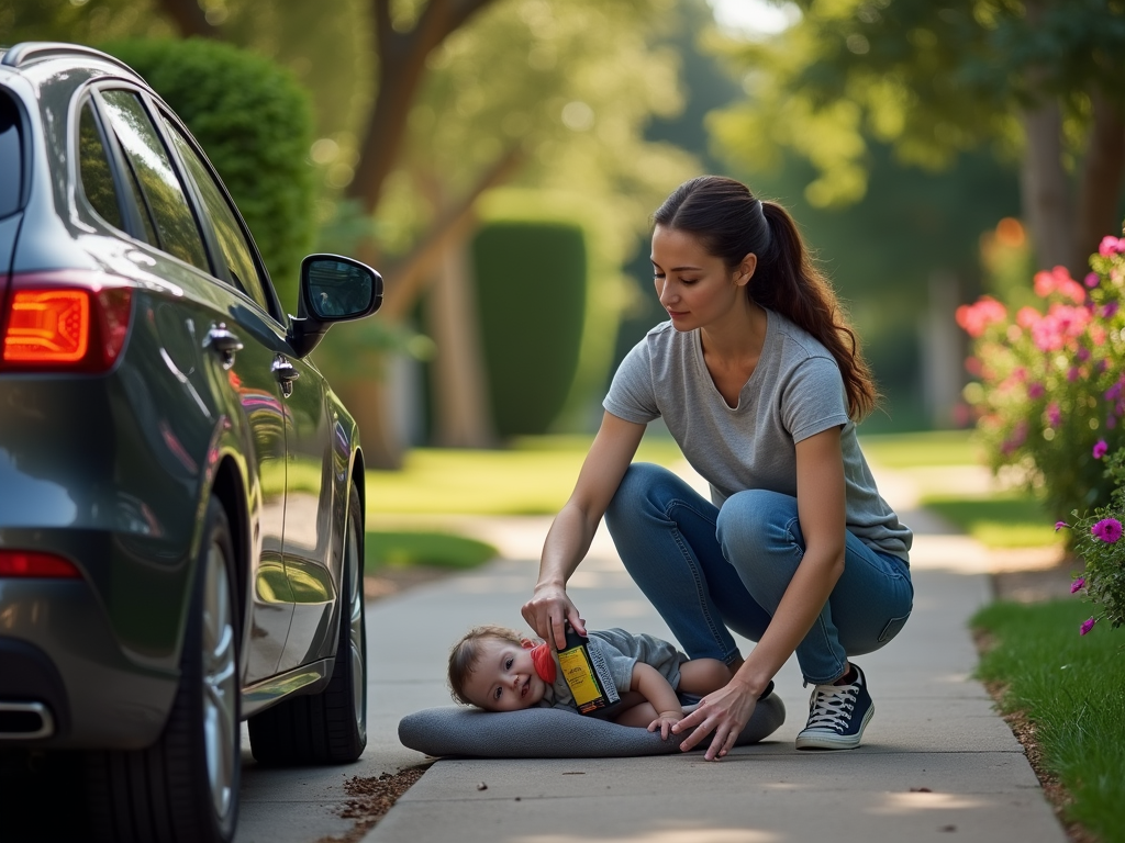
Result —
[[[369, 471], [368, 511], [554, 515], [574, 489], [588, 436], [518, 439], [504, 451], [414, 448], [400, 471]], [[670, 439], [646, 437], [638, 460], [681, 459]]]

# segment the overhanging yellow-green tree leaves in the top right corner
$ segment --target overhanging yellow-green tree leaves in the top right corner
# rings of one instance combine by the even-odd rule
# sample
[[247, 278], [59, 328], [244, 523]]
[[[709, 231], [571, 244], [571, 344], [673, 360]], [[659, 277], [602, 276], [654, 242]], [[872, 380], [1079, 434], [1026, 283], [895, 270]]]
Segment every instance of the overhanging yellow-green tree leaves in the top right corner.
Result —
[[870, 143], [939, 169], [958, 152], [992, 145], [1012, 158], [1019, 111], [1062, 97], [1071, 154], [1081, 148], [1089, 91], [1120, 101], [1125, 7], [1117, 0], [799, 0], [799, 24], [776, 39], [730, 48], [749, 75], [750, 102], [714, 127], [744, 160], [777, 148], [816, 167], [807, 197], [820, 207], [863, 196]]

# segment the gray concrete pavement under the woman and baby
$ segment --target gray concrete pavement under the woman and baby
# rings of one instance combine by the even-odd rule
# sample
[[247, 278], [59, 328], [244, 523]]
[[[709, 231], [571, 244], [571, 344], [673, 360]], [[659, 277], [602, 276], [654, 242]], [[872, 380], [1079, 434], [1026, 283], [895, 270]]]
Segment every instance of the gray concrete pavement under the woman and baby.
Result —
[[[988, 554], [927, 513], [903, 507], [910, 490], [900, 478], [879, 477], [917, 534], [916, 596], [896, 641], [857, 659], [876, 707], [861, 749], [794, 749], [809, 691], [791, 659], [776, 679], [786, 723], [721, 762], [701, 753], [438, 761], [364, 842], [1065, 841], [1022, 747], [970, 678], [976, 653], [966, 620], [991, 599]], [[549, 520], [471, 519], [461, 528], [493, 541], [505, 559], [369, 606], [370, 737], [385, 765], [424, 760], [398, 744], [397, 723], [450, 704], [444, 662], [458, 635], [477, 623], [523, 628], [519, 609], [531, 593]], [[672, 637], [603, 533], [569, 592], [594, 626]]]

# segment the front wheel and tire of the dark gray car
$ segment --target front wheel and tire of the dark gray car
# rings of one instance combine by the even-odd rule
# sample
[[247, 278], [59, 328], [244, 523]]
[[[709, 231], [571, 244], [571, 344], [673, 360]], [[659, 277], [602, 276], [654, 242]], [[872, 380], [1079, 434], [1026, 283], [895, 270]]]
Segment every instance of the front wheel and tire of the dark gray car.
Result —
[[250, 749], [263, 764], [341, 764], [367, 747], [367, 618], [363, 515], [348, 493], [341, 565], [341, 610], [332, 679], [315, 695], [294, 697], [250, 718]]

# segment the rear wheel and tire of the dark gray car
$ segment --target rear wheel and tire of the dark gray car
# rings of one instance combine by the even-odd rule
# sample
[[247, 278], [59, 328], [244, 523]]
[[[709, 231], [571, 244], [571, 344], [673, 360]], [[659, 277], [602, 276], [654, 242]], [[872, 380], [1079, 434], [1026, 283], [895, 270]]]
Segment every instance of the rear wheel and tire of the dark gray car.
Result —
[[86, 778], [94, 840], [230, 843], [242, 751], [234, 543], [215, 499], [196, 564], [180, 686], [155, 744], [90, 752]]

